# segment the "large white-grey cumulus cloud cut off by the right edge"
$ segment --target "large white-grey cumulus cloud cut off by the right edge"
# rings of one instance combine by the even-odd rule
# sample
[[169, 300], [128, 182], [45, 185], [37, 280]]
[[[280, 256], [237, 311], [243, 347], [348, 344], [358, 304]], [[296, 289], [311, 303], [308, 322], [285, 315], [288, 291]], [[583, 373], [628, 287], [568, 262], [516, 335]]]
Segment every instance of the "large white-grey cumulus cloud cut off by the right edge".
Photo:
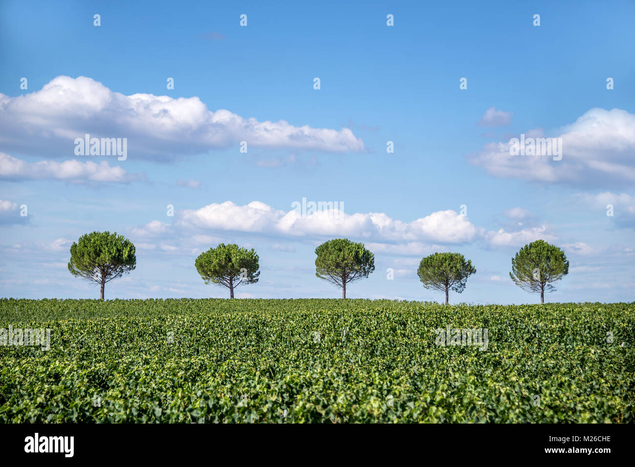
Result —
[[509, 141], [487, 144], [469, 161], [502, 178], [592, 187], [635, 181], [635, 115], [591, 109], [554, 136], [562, 138], [560, 161], [547, 155], [510, 155]]

